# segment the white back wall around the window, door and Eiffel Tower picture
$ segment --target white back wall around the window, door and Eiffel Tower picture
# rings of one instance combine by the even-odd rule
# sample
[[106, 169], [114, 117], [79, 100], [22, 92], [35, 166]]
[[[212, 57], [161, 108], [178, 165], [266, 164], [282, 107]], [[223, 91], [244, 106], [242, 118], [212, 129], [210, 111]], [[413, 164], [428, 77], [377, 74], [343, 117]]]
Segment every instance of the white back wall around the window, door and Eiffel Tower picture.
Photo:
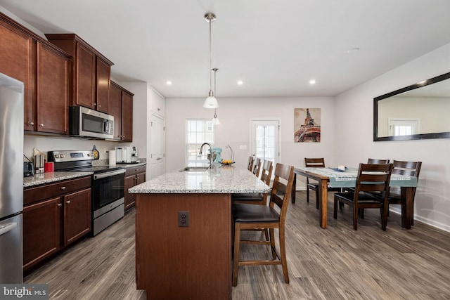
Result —
[[[187, 118], [212, 118], [214, 110], [203, 107], [205, 98], [166, 99], [166, 171], [185, 167], [185, 121]], [[281, 162], [300, 167], [304, 157], [325, 157], [326, 164], [334, 164], [334, 98], [218, 98], [214, 146], [223, 148], [222, 158], [227, 159], [225, 148], [231, 145], [237, 163], [245, 165], [250, 155], [250, 119], [273, 118], [281, 120]], [[321, 108], [321, 142], [294, 143], [294, 108]], [[247, 150], [239, 150], [247, 145]], [[299, 181], [301, 179], [299, 178]], [[297, 183], [302, 188], [302, 183]]]

